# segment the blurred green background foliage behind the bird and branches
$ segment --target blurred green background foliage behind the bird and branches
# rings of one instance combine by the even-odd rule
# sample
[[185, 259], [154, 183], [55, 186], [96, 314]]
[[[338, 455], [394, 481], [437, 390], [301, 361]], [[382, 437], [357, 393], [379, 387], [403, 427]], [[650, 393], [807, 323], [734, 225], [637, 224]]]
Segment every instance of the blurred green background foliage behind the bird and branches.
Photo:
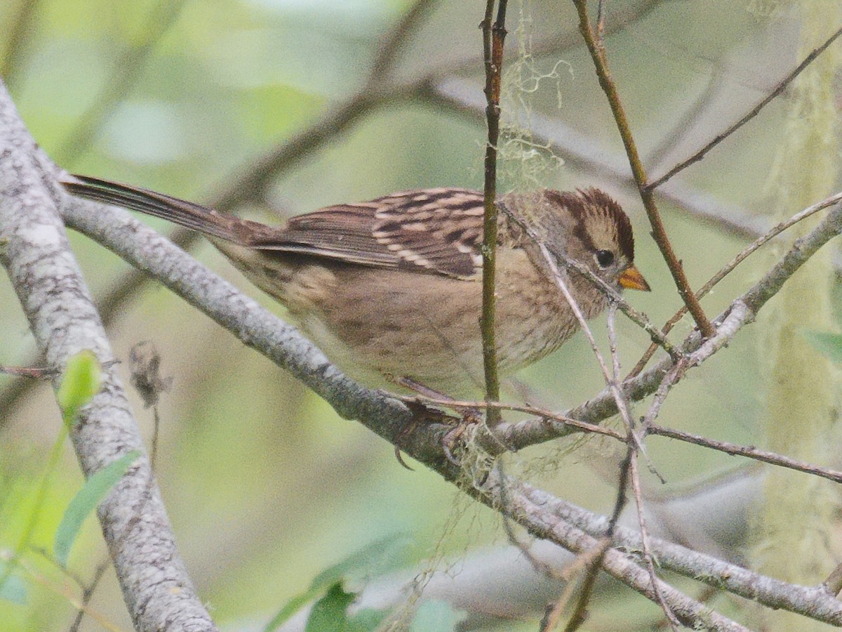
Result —
[[[436, 81], [459, 78], [466, 94], [482, 98], [477, 24], [484, 3], [426, 5], [423, 19], [390, 57], [389, 77], [368, 87], [382, 42], [413, 3], [8, 0], [0, 4], [0, 55], [26, 125], [62, 167], [209, 201], [235, 185], [237, 174], [253, 169], [258, 157], [290, 138], [307, 137], [311, 126], [360, 91], [377, 96], [432, 73]], [[572, 4], [511, 5], [506, 62], [519, 62], [521, 72], [520, 80], [507, 84], [509, 115], [522, 125], [532, 117], [559, 121], [593, 143], [601, 160], [621, 161], [619, 137], [591, 62], [581, 46], [567, 45], [577, 42]], [[685, 157], [765, 94], [781, 68], [795, 65], [795, 51], [786, 44], [791, 23], [748, 8], [749, 3], [726, 0], [610, 3], [611, 11], [632, 12], [606, 41], [644, 153], [661, 151], [665, 164]], [[545, 52], [525, 57], [519, 46], [530, 40]], [[713, 105], [702, 110], [695, 126], [683, 122], [706, 93], [717, 97]], [[711, 195], [711, 206], [731, 205], [743, 218], [762, 215], [781, 114], [781, 106], [772, 104], [682, 174], [685, 185]], [[280, 222], [273, 216], [393, 190], [480, 188], [484, 134], [481, 118], [455, 111], [435, 94], [387, 97], [290, 161], [269, 179], [258, 203], [239, 210]], [[632, 216], [637, 265], [654, 290], [628, 298], [656, 323], [669, 318], [679, 298], [632, 190], [616, 178], [606, 180], [603, 169], [582, 169], [575, 160], [561, 164], [542, 152], [537, 153], [545, 158], [536, 158], [524, 147], [504, 150], [504, 188], [530, 186], [529, 176], [537, 174], [541, 185], [598, 184], [610, 190]], [[565, 157], [563, 147], [557, 154]], [[663, 202], [663, 212], [695, 287], [747, 243], [674, 204]], [[163, 222], [150, 223], [169, 230]], [[94, 296], [106, 296], [128, 266], [86, 238], [71, 238]], [[194, 253], [284, 316], [283, 308], [262, 297], [208, 244]], [[705, 307], [718, 313], [759, 270], [749, 261]], [[132, 345], [152, 340], [163, 356], [163, 371], [173, 376], [160, 407], [158, 481], [190, 574], [221, 627], [267, 620], [325, 567], [388, 534], [412, 538], [405, 558], [395, 560], [408, 567], [429, 566], [440, 554], [459, 560], [473, 549], [505, 543], [491, 511], [455, 501], [456, 489], [420, 466], [413, 472], [400, 467], [392, 446], [339, 419], [285, 372], [158, 284], [144, 286], [118, 313], [109, 325], [117, 356], [126, 360]], [[680, 324], [675, 340], [689, 330], [688, 322]], [[605, 343], [604, 319], [594, 322], [594, 331]], [[627, 321], [620, 332], [621, 356], [630, 368], [647, 338]], [[663, 410], [663, 423], [751, 443], [763, 387], [753, 336], [746, 330], [705, 371], [681, 383]], [[33, 341], [7, 283], [0, 284], [0, 340], [0, 363], [31, 362]], [[602, 388], [581, 335], [520, 377], [541, 403], [557, 410]], [[12, 399], [16, 382], [0, 376], [5, 398], [0, 399], [0, 549], [13, 549], [19, 538], [61, 423], [47, 386]], [[152, 414], [131, 396], [150, 437]], [[599, 463], [613, 455], [600, 446], [559, 450], [569, 445], [530, 448], [511, 462], [564, 498], [609, 510], [615, 483], [600, 474], [605, 468]], [[719, 453], [658, 438], [650, 440], [649, 450], [669, 484], [733, 464]], [[67, 447], [36, 544], [49, 548], [81, 482]], [[90, 518], [71, 556], [72, 570], [87, 580], [104, 555]], [[25, 558], [28, 603], [0, 601], [0, 629], [66, 629], [75, 611], [61, 590], [77, 592], [76, 586], [39, 555]], [[131, 628], [110, 570], [92, 607], [121, 629]], [[612, 612], [605, 604], [595, 608], [589, 629], [628, 629]], [[533, 619], [523, 629], [535, 626]], [[82, 629], [104, 628], [88, 617]]]

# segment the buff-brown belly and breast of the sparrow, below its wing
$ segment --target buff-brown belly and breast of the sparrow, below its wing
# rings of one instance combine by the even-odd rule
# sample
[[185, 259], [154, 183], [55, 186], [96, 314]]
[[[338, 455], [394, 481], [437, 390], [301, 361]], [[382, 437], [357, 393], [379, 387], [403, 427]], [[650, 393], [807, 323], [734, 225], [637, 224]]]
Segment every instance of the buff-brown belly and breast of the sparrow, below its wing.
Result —
[[[302, 328], [365, 383], [382, 385], [380, 374], [412, 378], [454, 397], [482, 393], [481, 284], [398, 270], [381, 273], [375, 284], [370, 276], [339, 273], [342, 290], [329, 292], [317, 310], [301, 313]], [[575, 326], [560, 318], [557, 305], [534, 284], [506, 276], [500, 281], [507, 298], [498, 302], [495, 321], [498, 366], [505, 373], [557, 349]], [[454, 283], [460, 292], [453, 292]]]

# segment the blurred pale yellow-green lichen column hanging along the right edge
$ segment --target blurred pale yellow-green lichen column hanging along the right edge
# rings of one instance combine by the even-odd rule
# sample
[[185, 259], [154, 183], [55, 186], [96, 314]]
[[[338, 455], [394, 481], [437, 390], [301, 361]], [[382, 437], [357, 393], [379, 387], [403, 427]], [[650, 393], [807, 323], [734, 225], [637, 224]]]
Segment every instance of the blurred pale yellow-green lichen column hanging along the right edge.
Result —
[[[799, 56], [803, 56], [828, 35], [829, 28], [835, 28], [842, 12], [838, 0], [791, 4], [793, 11], [799, 7]], [[839, 112], [834, 86], [840, 61], [842, 49], [831, 46], [792, 85], [786, 129], [766, 191], [775, 219], [822, 199], [838, 182]], [[806, 233], [809, 228], [802, 223], [797, 230]], [[761, 321], [761, 366], [768, 379], [765, 447], [818, 464], [830, 463], [834, 455], [829, 447], [839, 445], [835, 421], [840, 384], [836, 367], [802, 332], [836, 330], [830, 301], [831, 254], [832, 249], [822, 250], [793, 276]], [[838, 492], [828, 481], [770, 468], [750, 521], [754, 570], [807, 585], [823, 581], [838, 560], [830, 550], [837, 539], [831, 532], [838, 504]], [[826, 629], [794, 614], [768, 612], [756, 627]]]

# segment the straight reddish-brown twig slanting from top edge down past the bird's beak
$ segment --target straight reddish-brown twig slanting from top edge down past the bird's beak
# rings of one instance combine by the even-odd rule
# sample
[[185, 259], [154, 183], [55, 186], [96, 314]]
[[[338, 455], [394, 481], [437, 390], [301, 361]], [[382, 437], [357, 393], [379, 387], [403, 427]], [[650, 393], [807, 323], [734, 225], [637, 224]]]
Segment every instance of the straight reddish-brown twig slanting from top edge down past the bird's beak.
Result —
[[663, 226], [663, 221], [661, 220], [660, 212], [658, 212], [658, 206], [655, 203], [652, 190], [647, 189], [646, 170], [643, 168], [640, 155], [637, 153], [637, 146], [632, 136], [632, 129], [626, 118], [626, 112], [623, 110], [621, 104], [620, 94], [617, 91], [614, 80], [611, 78], [608, 69], [608, 60], [605, 57], [605, 49], [596, 39], [594, 29], [591, 27], [587, 0], [573, 0], [573, 4], [576, 6], [579, 16], [579, 31], [585, 40], [585, 44], [588, 46], [591, 59], [594, 61], [597, 77], [600, 80], [600, 86], [608, 98], [611, 112], [614, 114], [616, 121], [617, 130], [620, 131], [623, 146], [626, 147], [626, 156], [632, 167], [632, 174], [637, 183], [637, 189], [640, 191], [643, 207], [646, 209], [646, 214], [649, 218], [649, 224], [652, 226], [655, 243], [658, 244], [658, 249], [660, 249], [663, 255], [663, 260], [666, 261], [669, 272], [675, 281], [675, 287], [678, 288], [679, 296], [693, 316], [696, 326], [701, 331], [701, 335], [710, 338], [714, 334], [713, 325], [711, 325], [711, 321], [707, 318], [704, 310], [701, 308], [701, 304], [699, 304], [698, 299], [695, 297], [692, 289], [690, 289], [690, 283], [687, 281], [684, 266], [675, 255], [672, 244], [669, 242], [669, 237], [667, 236], [666, 228]]

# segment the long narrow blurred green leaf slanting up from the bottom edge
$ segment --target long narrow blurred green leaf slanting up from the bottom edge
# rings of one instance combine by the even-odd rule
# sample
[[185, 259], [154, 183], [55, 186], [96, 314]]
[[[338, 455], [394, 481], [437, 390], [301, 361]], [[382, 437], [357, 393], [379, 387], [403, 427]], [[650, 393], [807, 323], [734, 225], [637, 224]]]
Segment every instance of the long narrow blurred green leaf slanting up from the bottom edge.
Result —
[[313, 579], [306, 592], [292, 597], [280, 609], [279, 613], [274, 615], [274, 618], [265, 627], [264, 632], [272, 632], [280, 628], [292, 615], [304, 608], [307, 603], [324, 595], [329, 588], [333, 587], [338, 581], [342, 581], [345, 576], [354, 573], [362, 576], [361, 571], [372, 572], [389, 563], [394, 564], [395, 560], [400, 559], [400, 549], [406, 547], [408, 542], [409, 538], [405, 535], [389, 535], [368, 544], [363, 549], [350, 554], [338, 564], [323, 570]]

